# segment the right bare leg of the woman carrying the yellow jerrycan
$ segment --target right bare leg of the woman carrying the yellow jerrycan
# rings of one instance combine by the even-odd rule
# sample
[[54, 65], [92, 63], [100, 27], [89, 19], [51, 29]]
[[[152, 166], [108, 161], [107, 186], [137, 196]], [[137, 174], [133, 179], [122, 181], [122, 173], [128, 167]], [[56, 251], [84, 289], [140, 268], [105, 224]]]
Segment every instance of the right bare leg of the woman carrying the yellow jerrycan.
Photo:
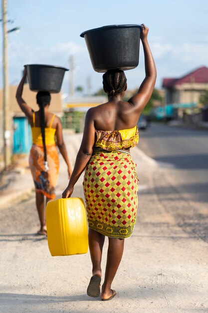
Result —
[[105, 280], [101, 292], [101, 297], [103, 299], [107, 299], [112, 295], [111, 284], [120, 264], [123, 250], [124, 239], [109, 238]]

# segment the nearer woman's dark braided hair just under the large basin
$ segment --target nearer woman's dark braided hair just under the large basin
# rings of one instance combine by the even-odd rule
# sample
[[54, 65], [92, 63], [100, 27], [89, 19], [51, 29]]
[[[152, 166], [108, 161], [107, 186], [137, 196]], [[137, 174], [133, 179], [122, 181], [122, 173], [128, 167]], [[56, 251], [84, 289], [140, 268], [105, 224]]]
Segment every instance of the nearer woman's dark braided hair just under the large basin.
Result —
[[126, 75], [121, 69], [109, 69], [103, 74], [103, 88], [108, 96], [117, 96], [126, 88]]

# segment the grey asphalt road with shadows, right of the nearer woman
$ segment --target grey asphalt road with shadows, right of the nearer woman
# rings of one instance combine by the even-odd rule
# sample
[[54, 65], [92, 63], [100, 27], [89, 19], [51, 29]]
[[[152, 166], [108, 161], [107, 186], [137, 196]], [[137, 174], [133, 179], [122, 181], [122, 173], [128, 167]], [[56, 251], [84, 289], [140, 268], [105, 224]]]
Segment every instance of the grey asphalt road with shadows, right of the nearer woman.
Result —
[[138, 146], [160, 165], [153, 192], [185, 231], [208, 242], [208, 131], [153, 123]]

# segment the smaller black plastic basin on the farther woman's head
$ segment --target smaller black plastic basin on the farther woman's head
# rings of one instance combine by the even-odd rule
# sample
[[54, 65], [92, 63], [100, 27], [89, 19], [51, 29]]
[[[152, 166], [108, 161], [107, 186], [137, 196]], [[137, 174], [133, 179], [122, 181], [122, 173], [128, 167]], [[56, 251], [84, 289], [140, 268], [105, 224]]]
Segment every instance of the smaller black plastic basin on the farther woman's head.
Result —
[[27, 78], [29, 88], [32, 91], [59, 92], [63, 81], [63, 76], [67, 68], [44, 65], [27, 64]]

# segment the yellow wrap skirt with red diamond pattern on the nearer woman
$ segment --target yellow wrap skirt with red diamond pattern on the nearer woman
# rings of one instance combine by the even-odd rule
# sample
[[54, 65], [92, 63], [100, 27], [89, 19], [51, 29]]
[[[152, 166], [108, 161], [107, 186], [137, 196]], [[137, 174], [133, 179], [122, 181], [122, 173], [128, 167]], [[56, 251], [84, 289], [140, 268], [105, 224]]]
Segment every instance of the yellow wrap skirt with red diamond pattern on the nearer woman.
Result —
[[138, 205], [135, 167], [128, 152], [93, 151], [83, 181], [89, 228], [113, 238], [132, 235]]

